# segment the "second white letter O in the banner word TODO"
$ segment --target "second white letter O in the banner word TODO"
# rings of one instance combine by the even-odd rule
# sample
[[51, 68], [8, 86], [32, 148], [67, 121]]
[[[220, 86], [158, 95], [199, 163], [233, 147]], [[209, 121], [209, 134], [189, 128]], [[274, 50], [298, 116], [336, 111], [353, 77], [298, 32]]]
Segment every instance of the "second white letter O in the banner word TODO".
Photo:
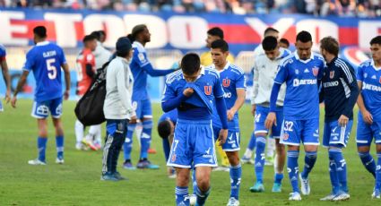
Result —
[[173, 47], [195, 49], [205, 46], [208, 22], [195, 16], [172, 16], [168, 20], [169, 43]]

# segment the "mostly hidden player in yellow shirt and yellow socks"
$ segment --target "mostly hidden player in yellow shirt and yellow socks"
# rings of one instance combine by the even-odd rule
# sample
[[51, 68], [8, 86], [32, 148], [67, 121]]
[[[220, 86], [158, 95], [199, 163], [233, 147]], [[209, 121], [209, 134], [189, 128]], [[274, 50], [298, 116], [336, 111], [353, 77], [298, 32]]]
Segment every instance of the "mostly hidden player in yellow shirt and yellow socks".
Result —
[[[206, 47], [209, 49], [206, 52], [203, 52], [201, 54], [200, 59], [201, 59], [201, 64], [203, 66], [209, 66], [213, 63], [212, 61], [212, 54], [211, 54], [211, 47], [212, 47], [212, 42], [215, 40], [223, 39], [224, 34], [223, 30], [219, 27], [213, 27], [212, 29], [207, 31], [207, 38], [205, 39], [206, 41]], [[231, 56], [229, 53], [228, 56], [228, 61], [230, 63], [234, 62], [234, 57]], [[219, 157], [221, 157], [221, 167], [216, 167], [214, 168], [214, 171], [228, 171], [229, 172], [229, 159], [226, 153], [222, 150], [222, 147], [220, 145], [216, 145], [216, 149], [218, 152]]]

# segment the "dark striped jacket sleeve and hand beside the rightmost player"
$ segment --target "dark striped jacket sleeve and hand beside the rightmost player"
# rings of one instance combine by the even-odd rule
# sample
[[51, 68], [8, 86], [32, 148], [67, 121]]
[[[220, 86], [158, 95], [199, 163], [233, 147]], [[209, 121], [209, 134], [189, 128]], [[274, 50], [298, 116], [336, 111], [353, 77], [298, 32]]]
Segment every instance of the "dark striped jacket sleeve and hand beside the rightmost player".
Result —
[[349, 116], [351, 115], [353, 111], [353, 107], [356, 104], [356, 100], [359, 96], [359, 86], [358, 82], [356, 80], [356, 74], [354, 72], [354, 69], [349, 64], [341, 64], [340, 67], [342, 68], [342, 78], [344, 79], [344, 82], [347, 83], [351, 90], [350, 97], [347, 100], [347, 104], [345, 106], [344, 111], [342, 112], [342, 116], [340, 116], [338, 122], [341, 125], [345, 125], [349, 121]]

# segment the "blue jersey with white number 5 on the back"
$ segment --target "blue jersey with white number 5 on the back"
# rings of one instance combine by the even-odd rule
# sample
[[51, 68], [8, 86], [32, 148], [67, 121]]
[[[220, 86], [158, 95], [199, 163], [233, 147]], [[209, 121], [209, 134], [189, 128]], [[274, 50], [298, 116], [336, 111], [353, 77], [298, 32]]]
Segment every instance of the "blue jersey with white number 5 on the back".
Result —
[[30, 49], [23, 70], [33, 72], [36, 101], [62, 97], [61, 65], [65, 63], [64, 51], [56, 44], [44, 41]]

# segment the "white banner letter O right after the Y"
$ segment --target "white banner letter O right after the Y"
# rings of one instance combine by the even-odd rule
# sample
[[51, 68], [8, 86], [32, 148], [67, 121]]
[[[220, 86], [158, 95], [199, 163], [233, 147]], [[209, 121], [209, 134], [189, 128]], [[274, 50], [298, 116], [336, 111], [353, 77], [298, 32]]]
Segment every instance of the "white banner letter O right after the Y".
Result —
[[339, 38], [339, 26], [333, 21], [327, 20], [301, 20], [297, 22], [297, 33], [302, 30], [307, 30], [311, 33], [312, 42], [317, 47], [320, 39], [323, 39], [327, 36], [331, 36], [334, 39]]

